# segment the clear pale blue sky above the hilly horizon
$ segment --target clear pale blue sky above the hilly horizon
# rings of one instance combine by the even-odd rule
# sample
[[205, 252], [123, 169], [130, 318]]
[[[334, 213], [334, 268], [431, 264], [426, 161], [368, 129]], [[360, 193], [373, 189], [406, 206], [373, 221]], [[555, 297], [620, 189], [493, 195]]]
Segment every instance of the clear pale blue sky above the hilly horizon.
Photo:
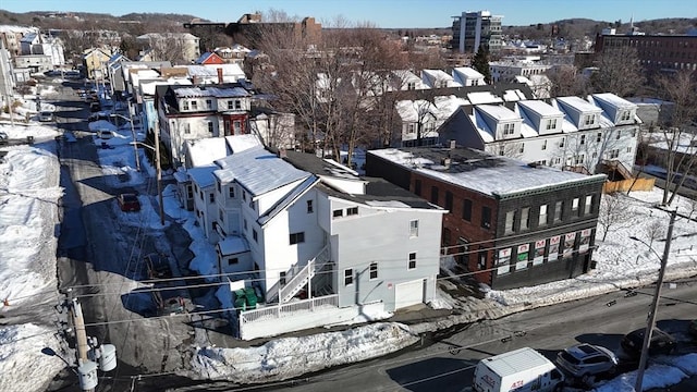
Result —
[[132, 12], [189, 14], [212, 22], [236, 22], [245, 13], [284, 11], [291, 16], [314, 16], [325, 26], [337, 16], [354, 22], [372, 22], [382, 28], [450, 27], [452, 16], [464, 11], [488, 10], [503, 16], [504, 26], [550, 23], [584, 17], [626, 23], [663, 17], [697, 17], [697, 5], [689, 0], [3, 0], [0, 8], [12, 12], [74, 11], [109, 13]]

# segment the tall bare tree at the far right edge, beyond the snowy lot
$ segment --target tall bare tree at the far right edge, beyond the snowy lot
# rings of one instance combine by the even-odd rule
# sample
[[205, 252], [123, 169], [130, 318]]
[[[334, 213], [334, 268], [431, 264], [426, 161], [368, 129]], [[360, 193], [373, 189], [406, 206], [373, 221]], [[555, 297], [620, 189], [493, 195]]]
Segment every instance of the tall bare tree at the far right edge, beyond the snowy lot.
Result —
[[[662, 124], [665, 140], [665, 187], [661, 204], [669, 206], [697, 166], [697, 81], [690, 71], [680, 71], [658, 78], [661, 97], [671, 102], [671, 113]], [[672, 187], [672, 189], [671, 189]]]

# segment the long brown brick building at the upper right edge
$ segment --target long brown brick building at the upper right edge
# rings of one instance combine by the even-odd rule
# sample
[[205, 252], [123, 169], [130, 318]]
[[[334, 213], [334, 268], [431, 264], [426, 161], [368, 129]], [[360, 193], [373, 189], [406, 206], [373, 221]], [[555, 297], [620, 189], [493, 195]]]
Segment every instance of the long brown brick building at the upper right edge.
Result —
[[598, 35], [596, 53], [603, 50], [636, 48], [647, 71], [697, 71], [697, 35]]

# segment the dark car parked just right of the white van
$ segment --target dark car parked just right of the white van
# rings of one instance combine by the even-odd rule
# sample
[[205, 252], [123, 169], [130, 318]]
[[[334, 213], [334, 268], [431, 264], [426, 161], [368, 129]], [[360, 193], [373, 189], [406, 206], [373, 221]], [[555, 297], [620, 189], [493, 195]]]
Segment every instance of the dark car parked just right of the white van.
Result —
[[617, 357], [610, 350], [592, 344], [576, 344], [557, 355], [557, 366], [587, 383], [599, 375], [614, 375]]

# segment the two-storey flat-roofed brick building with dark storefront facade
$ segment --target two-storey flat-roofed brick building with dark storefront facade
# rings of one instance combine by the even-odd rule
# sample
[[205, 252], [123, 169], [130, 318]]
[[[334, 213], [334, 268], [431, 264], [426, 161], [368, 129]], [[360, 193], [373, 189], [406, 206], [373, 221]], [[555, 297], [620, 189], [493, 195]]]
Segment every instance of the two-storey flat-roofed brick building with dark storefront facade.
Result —
[[369, 150], [366, 173], [448, 210], [442, 245], [494, 290], [592, 268], [604, 174], [584, 175], [455, 147]]

